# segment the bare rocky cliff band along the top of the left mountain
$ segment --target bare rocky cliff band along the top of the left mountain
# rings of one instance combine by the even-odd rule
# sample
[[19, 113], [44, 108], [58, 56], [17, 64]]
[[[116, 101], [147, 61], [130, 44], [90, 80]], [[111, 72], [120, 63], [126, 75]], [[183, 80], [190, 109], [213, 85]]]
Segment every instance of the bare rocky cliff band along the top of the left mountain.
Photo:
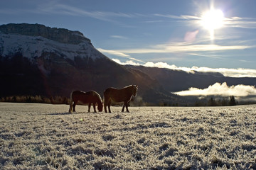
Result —
[[82, 41], [87, 41], [90, 43], [90, 39], [85, 38], [85, 36], [79, 31], [71, 31], [64, 28], [50, 28], [41, 24], [9, 23], [0, 26], [0, 31], [2, 33], [41, 36], [49, 40], [75, 45], [78, 45]]

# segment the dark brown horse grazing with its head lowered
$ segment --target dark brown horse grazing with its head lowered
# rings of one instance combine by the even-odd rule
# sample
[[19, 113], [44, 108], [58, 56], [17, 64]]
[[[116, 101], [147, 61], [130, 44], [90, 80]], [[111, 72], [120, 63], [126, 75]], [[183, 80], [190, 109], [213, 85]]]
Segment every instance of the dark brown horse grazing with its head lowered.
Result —
[[[73, 104], [74, 101], [74, 104]], [[88, 112], [90, 112], [90, 106], [91, 103], [93, 104], [94, 112], [96, 113], [95, 105], [97, 103], [97, 109], [98, 111], [102, 112], [102, 98], [100, 97], [100, 94], [97, 94], [96, 91], [72, 91], [70, 94], [70, 109], [69, 113], [75, 112], [75, 105], [78, 103], [78, 101], [81, 101], [82, 103], [89, 104]]]

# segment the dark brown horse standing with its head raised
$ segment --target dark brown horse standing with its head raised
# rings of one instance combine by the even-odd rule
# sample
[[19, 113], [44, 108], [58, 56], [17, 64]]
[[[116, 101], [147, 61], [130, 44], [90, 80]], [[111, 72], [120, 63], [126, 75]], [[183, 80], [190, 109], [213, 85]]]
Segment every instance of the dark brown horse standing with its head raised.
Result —
[[128, 102], [131, 100], [132, 96], [136, 96], [137, 94], [137, 85], [130, 85], [126, 86], [123, 89], [114, 89], [114, 88], [109, 88], [104, 91], [104, 110], [105, 113], [107, 113], [107, 107], [110, 111], [110, 105], [112, 101], [115, 102], [124, 102], [124, 105], [122, 107], [122, 112], [124, 112], [124, 106], [128, 111]]

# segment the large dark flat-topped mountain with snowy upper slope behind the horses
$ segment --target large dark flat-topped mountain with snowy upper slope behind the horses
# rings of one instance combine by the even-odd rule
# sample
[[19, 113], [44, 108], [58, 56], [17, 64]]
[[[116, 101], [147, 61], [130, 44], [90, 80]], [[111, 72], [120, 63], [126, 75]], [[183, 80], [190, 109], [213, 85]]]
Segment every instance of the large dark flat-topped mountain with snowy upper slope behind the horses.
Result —
[[[70, 92], [138, 84], [144, 102], [183, 103], [139, 69], [113, 62], [79, 31], [40, 24], [0, 26], [0, 96], [69, 96]], [[103, 96], [102, 96], [103, 97]]]

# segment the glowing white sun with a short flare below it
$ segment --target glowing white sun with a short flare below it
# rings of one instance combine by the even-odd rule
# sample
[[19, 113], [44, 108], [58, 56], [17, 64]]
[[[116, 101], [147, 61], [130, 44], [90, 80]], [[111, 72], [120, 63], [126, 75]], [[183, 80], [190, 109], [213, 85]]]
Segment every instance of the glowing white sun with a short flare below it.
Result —
[[210, 9], [203, 13], [201, 17], [201, 25], [210, 32], [210, 38], [214, 39], [214, 30], [221, 28], [224, 23], [224, 13], [218, 9]]

